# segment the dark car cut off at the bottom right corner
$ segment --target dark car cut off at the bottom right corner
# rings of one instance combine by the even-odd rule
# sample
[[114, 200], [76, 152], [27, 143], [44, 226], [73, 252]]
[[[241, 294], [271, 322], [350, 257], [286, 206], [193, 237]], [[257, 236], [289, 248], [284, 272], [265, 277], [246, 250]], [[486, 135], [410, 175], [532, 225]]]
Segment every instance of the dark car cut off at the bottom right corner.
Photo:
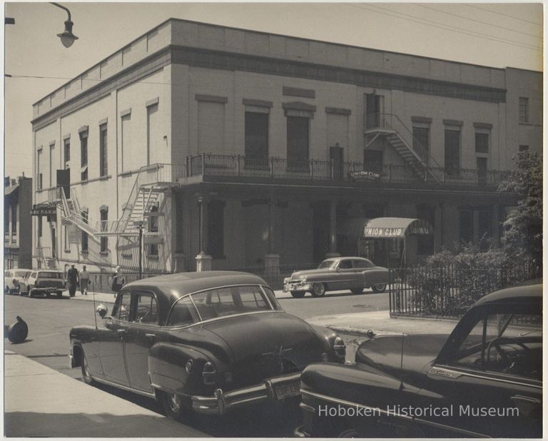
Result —
[[542, 285], [477, 301], [449, 335], [382, 335], [308, 366], [313, 437], [542, 437]]

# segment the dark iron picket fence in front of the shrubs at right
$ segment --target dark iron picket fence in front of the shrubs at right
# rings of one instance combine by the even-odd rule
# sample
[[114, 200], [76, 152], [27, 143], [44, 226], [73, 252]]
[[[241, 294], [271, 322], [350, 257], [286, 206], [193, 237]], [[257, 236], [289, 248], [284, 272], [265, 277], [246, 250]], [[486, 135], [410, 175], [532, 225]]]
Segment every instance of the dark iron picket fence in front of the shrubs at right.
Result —
[[523, 261], [507, 268], [415, 268], [390, 270], [390, 315], [459, 318], [483, 295], [541, 277]]

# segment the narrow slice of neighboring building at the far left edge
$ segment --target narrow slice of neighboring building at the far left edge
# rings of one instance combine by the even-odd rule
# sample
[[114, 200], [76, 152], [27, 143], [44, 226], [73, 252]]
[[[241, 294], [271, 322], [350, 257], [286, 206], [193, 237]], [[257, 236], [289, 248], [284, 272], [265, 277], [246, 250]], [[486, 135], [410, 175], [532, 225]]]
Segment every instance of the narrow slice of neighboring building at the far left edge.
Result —
[[4, 178], [4, 268], [32, 265], [32, 179]]

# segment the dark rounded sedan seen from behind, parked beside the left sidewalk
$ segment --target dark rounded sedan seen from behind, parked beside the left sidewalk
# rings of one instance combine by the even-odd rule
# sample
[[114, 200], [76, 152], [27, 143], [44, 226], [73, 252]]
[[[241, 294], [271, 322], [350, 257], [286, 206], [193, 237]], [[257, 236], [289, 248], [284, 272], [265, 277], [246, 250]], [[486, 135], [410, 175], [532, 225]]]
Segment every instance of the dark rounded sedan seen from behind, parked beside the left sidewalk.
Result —
[[285, 313], [258, 276], [178, 273], [124, 285], [111, 315], [70, 331], [71, 367], [95, 381], [155, 397], [166, 415], [222, 415], [298, 400], [300, 373], [345, 362], [333, 331]]

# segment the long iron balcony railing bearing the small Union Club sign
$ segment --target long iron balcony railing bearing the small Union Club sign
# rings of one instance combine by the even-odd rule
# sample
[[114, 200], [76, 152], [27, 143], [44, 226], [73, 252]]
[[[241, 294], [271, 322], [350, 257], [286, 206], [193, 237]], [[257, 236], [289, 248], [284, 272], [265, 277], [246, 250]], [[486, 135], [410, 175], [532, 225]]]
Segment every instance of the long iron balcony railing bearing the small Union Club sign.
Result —
[[303, 181], [370, 181], [380, 183], [432, 183], [450, 186], [496, 186], [507, 171], [429, 167], [418, 176], [408, 166], [340, 161], [298, 161], [285, 158], [203, 154], [187, 160], [188, 176], [240, 176], [286, 178]]

